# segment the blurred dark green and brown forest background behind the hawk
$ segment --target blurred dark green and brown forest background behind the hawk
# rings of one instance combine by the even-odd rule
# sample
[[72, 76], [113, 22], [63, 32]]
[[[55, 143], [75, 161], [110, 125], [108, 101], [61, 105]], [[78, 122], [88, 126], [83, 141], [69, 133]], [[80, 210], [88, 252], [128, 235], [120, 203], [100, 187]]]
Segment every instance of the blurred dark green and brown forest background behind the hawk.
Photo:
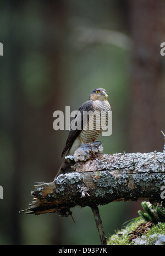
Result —
[[[97, 87], [107, 90], [113, 132], [104, 152], [163, 151], [163, 0], [1, 1], [0, 244], [100, 244], [90, 208], [73, 216], [24, 215], [35, 182], [51, 182], [70, 111]], [[106, 235], [136, 216], [140, 202], [99, 206]]]

